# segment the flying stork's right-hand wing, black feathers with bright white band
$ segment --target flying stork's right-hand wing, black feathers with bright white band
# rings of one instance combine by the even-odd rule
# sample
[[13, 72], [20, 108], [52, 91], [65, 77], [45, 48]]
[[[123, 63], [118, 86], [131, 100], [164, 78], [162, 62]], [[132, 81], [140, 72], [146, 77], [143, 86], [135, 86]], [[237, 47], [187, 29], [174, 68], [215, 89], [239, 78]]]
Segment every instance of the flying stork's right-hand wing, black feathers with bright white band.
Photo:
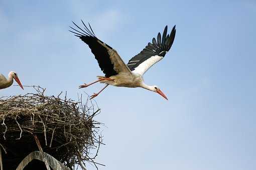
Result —
[[137, 55], [132, 57], [127, 66], [131, 71], [143, 75], [152, 65], [164, 58], [165, 54], [170, 50], [176, 29], [175, 25], [171, 31], [171, 34], [167, 34], [167, 25], [165, 26], [162, 41], [161, 34], [158, 33], [156, 38], [152, 39], [152, 43], [149, 42], [148, 45]]

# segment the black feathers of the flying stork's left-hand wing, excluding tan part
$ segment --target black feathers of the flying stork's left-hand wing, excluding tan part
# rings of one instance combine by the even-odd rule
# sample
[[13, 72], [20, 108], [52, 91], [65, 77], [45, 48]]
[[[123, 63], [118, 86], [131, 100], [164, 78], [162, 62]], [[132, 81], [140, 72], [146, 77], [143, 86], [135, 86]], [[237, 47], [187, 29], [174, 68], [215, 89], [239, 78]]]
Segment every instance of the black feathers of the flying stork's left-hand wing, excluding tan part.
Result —
[[112, 47], [105, 44], [95, 36], [90, 24], [89, 24], [89, 27], [91, 30], [88, 29], [88, 27], [84, 24], [83, 21], [82, 23], [85, 26], [84, 30], [74, 23], [74, 25], [78, 27], [78, 29], [80, 29], [81, 31], [71, 26], [70, 28], [73, 29], [74, 31], [72, 30], [69, 30], [69, 31], [72, 33], [75, 33], [76, 36], [78, 36], [82, 41], [88, 44], [88, 46], [91, 48], [91, 52], [94, 54], [95, 58], [98, 61], [100, 69], [103, 71], [103, 73], [105, 73], [106, 77], [109, 77], [111, 75], [116, 75], [117, 72], [114, 70], [114, 65], [111, 63], [109, 54], [107, 52], [107, 48], [112, 49]]

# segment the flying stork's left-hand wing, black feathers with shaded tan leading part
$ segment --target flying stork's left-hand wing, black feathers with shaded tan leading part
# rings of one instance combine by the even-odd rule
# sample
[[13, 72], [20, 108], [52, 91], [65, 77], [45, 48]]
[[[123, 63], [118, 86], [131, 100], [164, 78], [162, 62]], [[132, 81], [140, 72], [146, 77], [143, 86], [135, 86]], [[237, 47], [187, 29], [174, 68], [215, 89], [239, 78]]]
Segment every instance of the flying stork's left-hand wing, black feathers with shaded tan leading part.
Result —
[[75, 36], [78, 36], [82, 41], [88, 44], [88, 46], [91, 48], [91, 52], [98, 61], [99, 67], [103, 73], [105, 73], [105, 76], [109, 77], [120, 72], [131, 72], [117, 51], [98, 39], [95, 36], [90, 24], [90, 29], [88, 29], [83, 21], [82, 23], [85, 26], [84, 29], [81, 29], [77, 24], [74, 23], [78, 30], [70, 26], [70, 28], [73, 30], [69, 31], [75, 33]]

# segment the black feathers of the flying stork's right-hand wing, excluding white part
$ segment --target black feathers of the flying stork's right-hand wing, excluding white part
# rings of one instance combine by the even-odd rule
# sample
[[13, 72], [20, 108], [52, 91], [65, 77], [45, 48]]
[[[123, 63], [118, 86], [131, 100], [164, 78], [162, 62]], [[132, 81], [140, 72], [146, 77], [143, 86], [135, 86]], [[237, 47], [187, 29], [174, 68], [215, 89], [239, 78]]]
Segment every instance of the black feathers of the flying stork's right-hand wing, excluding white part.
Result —
[[151, 56], [159, 55], [159, 56], [165, 56], [166, 52], [170, 50], [175, 34], [176, 34], [176, 25], [172, 28], [172, 31], [170, 35], [167, 34], [167, 25], [165, 26], [163, 37], [161, 41], [161, 34], [160, 32], [157, 35], [157, 40], [155, 37], [152, 39], [152, 43], [149, 42], [148, 45], [137, 55], [132, 57], [129, 62], [127, 63], [127, 66], [130, 68], [130, 70], [134, 70], [137, 66], [139, 66], [142, 62], [149, 59]]

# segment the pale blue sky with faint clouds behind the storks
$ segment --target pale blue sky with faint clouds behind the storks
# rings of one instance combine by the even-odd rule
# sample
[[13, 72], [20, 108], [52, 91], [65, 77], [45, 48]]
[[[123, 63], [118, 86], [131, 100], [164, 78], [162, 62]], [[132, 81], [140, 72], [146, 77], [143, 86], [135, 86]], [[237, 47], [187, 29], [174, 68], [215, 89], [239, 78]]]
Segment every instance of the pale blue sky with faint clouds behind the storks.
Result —
[[[106, 145], [100, 169], [256, 169], [255, 0], [0, 0], [1, 73], [24, 85], [76, 99], [103, 84], [90, 49], [68, 31], [89, 21], [127, 62], [165, 25], [176, 24], [171, 51], [144, 76], [168, 96], [108, 87], [102, 109]], [[32, 92], [12, 86], [1, 96]], [[88, 165], [88, 168], [94, 169]]]

